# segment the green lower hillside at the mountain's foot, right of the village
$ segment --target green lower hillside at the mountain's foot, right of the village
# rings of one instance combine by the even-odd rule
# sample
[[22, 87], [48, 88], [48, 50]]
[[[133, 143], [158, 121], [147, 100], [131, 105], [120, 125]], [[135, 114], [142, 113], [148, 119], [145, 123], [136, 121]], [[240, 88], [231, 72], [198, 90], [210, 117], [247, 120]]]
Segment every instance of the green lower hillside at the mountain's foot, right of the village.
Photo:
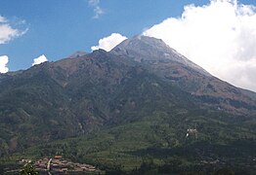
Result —
[[[42, 144], [26, 150], [23, 157], [63, 155], [75, 162], [92, 163], [108, 173], [205, 174], [226, 166], [235, 172], [255, 172], [255, 134], [246, 125], [234, 127], [238, 123], [225, 113], [198, 110], [192, 114], [183, 113], [184, 117], [174, 122], [168, 115], [154, 112], [137, 122]], [[195, 123], [197, 137], [186, 138], [186, 128]]]

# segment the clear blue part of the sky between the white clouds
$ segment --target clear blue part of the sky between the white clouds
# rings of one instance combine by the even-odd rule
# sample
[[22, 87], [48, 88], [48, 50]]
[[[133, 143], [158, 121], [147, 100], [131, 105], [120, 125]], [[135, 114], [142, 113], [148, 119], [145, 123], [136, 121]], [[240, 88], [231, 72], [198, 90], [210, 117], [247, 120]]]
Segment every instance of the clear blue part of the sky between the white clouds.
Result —
[[[100, 39], [111, 33], [120, 33], [129, 38], [161, 24], [167, 18], [180, 18], [185, 13], [184, 7], [189, 4], [203, 9], [204, 6], [210, 7], [210, 0], [1, 0], [0, 56], [7, 55], [9, 70], [16, 71], [29, 68], [33, 59], [42, 54], [49, 61], [55, 61], [76, 51], [89, 53], [92, 46], [97, 46]], [[256, 6], [254, 0], [240, 0], [238, 4]], [[1, 18], [4, 21], [1, 22]], [[20, 33], [1, 43], [3, 23]], [[157, 37], [160, 31], [152, 29], [148, 35]], [[161, 39], [164, 40], [164, 37]], [[164, 41], [169, 44], [168, 40]], [[176, 46], [172, 43], [169, 45]], [[177, 48], [180, 51], [179, 46]], [[192, 55], [186, 52], [185, 55]], [[200, 62], [196, 63], [200, 65]], [[214, 70], [210, 72], [214, 74]], [[224, 71], [223, 74], [227, 73]], [[225, 76], [221, 78], [232, 82]], [[237, 86], [256, 90], [256, 85]]]

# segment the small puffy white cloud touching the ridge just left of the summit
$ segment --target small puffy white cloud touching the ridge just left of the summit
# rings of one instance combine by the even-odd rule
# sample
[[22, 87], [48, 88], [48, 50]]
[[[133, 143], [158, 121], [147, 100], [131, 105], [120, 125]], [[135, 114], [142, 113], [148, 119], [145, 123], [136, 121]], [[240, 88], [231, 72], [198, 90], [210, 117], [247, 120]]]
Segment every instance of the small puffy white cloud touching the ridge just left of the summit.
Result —
[[91, 47], [91, 50], [95, 51], [95, 50], [103, 49], [109, 52], [111, 49], [113, 49], [116, 45], [118, 45], [125, 39], [127, 39], [127, 37], [122, 36], [119, 33], [112, 33], [111, 35], [99, 40], [99, 45]]

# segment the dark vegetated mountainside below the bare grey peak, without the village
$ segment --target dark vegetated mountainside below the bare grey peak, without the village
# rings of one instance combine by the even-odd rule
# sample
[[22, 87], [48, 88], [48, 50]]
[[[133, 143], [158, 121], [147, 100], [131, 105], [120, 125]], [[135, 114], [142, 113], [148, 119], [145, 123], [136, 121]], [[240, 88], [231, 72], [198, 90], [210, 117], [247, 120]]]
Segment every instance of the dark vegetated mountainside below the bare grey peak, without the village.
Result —
[[255, 101], [181, 64], [98, 51], [0, 77], [0, 172], [62, 155], [108, 174], [255, 173]]

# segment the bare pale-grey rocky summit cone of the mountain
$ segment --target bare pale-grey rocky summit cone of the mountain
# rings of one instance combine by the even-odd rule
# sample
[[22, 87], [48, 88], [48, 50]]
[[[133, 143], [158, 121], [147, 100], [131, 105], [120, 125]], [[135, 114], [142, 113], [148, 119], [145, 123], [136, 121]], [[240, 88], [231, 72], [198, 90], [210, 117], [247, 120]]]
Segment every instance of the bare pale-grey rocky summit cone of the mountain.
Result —
[[166, 45], [161, 39], [137, 35], [127, 39], [110, 51], [117, 55], [127, 55], [138, 62], [142, 61], [173, 61], [182, 63], [196, 72], [205, 76], [211, 76], [200, 66], [193, 63], [187, 57], [178, 53]]

